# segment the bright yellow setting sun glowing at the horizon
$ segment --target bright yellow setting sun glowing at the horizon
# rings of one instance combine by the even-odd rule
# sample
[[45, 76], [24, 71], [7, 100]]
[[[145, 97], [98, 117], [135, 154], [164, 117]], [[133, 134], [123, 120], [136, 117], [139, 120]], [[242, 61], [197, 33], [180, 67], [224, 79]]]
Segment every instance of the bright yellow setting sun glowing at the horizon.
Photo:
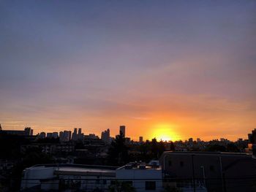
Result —
[[167, 123], [157, 124], [153, 127], [151, 137], [156, 138], [157, 141], [173, 141], [173, 139], [177, 139], [177, 134], [173, 130], [174, 127]]

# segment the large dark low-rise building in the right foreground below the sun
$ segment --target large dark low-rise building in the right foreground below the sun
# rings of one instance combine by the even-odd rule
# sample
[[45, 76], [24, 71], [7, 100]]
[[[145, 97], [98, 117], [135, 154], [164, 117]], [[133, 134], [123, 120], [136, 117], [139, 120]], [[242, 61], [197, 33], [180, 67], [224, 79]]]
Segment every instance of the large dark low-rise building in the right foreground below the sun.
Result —
[[245, 153], [167, 151], [160, 158], [165, 178], [180, 187], [206, 187], [207, 191], [252, 191], [256, 161]]

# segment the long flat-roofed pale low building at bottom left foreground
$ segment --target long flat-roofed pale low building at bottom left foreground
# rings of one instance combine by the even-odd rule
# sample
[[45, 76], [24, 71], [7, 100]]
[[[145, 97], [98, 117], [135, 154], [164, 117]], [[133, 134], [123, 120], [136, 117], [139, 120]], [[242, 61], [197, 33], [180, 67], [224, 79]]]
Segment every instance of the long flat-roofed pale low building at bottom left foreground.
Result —
[[37, 165], [23, 171], [21, 191], [108, 191], [116, 167], [78, 164]]

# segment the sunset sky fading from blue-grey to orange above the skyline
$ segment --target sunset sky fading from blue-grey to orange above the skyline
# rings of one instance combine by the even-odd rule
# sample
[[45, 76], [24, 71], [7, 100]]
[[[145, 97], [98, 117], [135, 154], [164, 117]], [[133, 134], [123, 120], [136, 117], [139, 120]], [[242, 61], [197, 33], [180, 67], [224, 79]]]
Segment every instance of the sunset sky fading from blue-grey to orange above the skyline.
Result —
[[246, 139], [256, 1], [0, 1], [0, 123]]

